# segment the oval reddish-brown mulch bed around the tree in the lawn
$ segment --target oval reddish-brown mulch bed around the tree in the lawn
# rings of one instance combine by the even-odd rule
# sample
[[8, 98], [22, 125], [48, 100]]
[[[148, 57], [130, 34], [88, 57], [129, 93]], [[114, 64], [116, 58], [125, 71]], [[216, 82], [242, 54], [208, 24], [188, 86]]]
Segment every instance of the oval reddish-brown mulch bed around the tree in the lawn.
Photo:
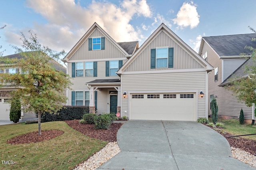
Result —
[[24, 135], [16, 136], [11, 140], [8, 140], [7, 143], [11, 145], [18, 145], [18, 144], [24, 144], [24, 143], [42, 142], [42, 141], [54, 139], [62, 135], [63, 133], [64, 131], [59, 131], [59, 130], [41, 131], [41, 135], [38, 135], [38, 131], [31, 132]]

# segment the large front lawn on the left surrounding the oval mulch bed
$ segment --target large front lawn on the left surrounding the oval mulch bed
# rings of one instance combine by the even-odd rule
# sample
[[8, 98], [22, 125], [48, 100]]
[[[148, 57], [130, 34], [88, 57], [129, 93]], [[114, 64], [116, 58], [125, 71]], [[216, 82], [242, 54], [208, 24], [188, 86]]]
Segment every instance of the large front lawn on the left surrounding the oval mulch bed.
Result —
[[108, 143], [86, 137], [63, 121], [42, 123], [41, 127], [61, 130], [64, 134], [40, 143], [10, 145], [7, 140], [38, 131], [38, 124], [0, 125], [0, 158], [16, 162], [12, 165], [0, 162], [0, 169], [72, 169]]

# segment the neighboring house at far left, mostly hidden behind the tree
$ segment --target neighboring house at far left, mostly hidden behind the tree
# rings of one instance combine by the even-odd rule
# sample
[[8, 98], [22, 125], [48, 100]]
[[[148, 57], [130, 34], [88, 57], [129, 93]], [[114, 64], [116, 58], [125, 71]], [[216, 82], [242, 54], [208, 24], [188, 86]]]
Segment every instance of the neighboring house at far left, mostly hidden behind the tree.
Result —
[[[17, 53], [13, 55], [8, 55], [4, 56], [8, 57], [10, 59], [21, 59], [22, 56]], [[61, 70], [64, 73], [66, 72], [66, 68], [56, 62], [55, 60], [50, 60], [50, 63], [54, 64], [54, 67], [56, 70]], [[16, 68], [15, 66], [10, 66], [10, 68], [4, 68], [0, 66], [0, 74], [1, 73], [9, 73], [9, 74], [15, 74], [15, 73], [22, 73], [19, 68]], [[11, 92], [13, 90], [17, 90], [17, 87], [12, 87], [11, 85], [3, 85], [0, 87], [0, 120], [10, 120], [10, 104], [7, 104], [6, 101], [11, 100]], [[32, 112], [24, 113], [23, 111], [21, 112], [21, 119], [22, 121], [27, 121], [31, 119], [37, 119], [36, 114]]]

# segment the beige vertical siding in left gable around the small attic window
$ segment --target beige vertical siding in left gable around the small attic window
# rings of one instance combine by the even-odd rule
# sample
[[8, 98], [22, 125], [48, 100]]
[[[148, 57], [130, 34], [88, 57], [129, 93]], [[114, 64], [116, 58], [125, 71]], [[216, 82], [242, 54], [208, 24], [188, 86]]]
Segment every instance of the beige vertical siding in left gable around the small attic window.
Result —
[[[88, 38], [92, 37], [105, 37], [98, 29], [95, 29]], [[124, 58], [126, 55], [117, 48], [107, 37], [105, 37], [105, 49], [104, 50], [88, 50], [88, 39], [79, 47], [79, 49], [70, 57], [70, 61], [77, 60], [89, 60], [89, 59], [112, 59], [112, 58]]]

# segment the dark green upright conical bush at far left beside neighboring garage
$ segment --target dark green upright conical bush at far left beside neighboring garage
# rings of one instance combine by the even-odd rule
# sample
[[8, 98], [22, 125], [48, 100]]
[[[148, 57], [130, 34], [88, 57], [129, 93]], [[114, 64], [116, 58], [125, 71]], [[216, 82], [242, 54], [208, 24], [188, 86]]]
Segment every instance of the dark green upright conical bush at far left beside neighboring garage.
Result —
[[10, 107], [10, 121], [17, 123], [21, 116], [21, 104], [20, 99], [12, 98]]

